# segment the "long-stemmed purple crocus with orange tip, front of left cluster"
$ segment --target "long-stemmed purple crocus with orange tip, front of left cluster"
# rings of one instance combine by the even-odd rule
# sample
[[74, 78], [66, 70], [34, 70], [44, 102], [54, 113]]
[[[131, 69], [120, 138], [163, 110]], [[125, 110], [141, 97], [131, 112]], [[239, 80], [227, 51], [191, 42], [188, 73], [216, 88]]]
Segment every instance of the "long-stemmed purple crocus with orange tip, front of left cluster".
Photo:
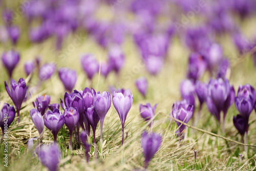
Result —
[[70, 132], [69, 145], [70, 145], [70, 148], [72, 149], [72, 133], [79, 120], [79, 113], [76, 108], [69, 107], [65, 109], [63, 116], [64, 116], [65, 124], [68, 127]]

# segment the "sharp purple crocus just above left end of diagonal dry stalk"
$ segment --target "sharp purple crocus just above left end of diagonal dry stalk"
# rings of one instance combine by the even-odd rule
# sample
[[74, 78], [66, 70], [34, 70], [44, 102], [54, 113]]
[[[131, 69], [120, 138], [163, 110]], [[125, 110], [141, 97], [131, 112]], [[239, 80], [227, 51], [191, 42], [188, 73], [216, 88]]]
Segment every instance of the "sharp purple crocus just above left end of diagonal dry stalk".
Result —
[[[186, 100], [177, 101], [173, 104], [173, 111], [170, 116], [187, 123], [190, 118], [192, 117], [194, 112], [194, 106], [189, 104]], [[185, 125], [176, 121], [177, 125], [179, 126], [180, 135], [182, 134], [183, 130], [186, 128]]]

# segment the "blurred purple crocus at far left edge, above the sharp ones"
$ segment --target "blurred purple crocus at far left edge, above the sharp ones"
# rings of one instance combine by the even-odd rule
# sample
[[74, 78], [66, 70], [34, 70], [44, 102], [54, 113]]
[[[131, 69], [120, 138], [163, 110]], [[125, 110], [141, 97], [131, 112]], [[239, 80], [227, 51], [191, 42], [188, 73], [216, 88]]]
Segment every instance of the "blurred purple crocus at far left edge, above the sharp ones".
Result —
[[8, 71], [9, 78], [11, 78], [12, 72], [19, 62], [19, 52], [14, 50], [4, 52], [2, 55], [2, 61], [4, 63], [5, 68]]

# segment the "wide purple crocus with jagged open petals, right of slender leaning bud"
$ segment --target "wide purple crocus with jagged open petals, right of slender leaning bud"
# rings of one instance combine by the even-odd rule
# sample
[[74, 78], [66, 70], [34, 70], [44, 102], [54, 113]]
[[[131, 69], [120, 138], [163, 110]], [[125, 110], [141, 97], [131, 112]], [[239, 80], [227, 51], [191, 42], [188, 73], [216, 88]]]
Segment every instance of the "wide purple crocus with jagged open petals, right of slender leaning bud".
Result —
[[48, 110], [44, 115], [44, 122], [46, 127], [52, 132], [54, 142], [56, 142], [58, 132], [64, 124], [62, 113], [58, 109], [54, 109], [53, 112]]

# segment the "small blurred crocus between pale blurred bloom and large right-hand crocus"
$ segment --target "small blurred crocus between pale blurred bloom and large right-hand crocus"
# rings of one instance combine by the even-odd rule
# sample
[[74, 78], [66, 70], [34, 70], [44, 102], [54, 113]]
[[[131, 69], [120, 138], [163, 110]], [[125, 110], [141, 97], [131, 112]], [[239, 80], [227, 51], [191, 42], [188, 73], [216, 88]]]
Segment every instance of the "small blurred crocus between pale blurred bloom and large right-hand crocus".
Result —
[[197, 97], [199, 99], [200, 107], [201, 107], [204, 101], [206, 101], [208, 96], [208, 84], [203, 83], [201, 81], [197, 81], [195, 90], [196, 90]]

